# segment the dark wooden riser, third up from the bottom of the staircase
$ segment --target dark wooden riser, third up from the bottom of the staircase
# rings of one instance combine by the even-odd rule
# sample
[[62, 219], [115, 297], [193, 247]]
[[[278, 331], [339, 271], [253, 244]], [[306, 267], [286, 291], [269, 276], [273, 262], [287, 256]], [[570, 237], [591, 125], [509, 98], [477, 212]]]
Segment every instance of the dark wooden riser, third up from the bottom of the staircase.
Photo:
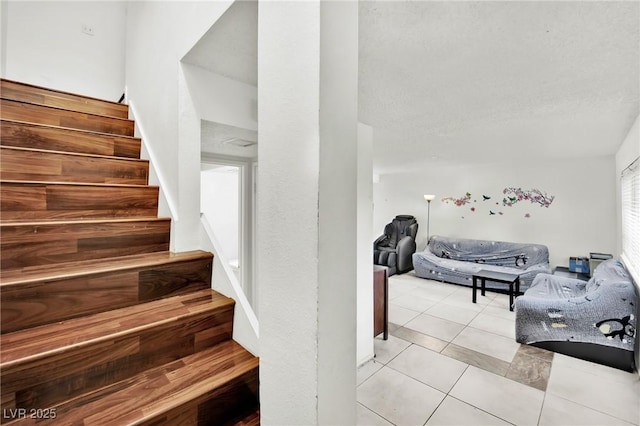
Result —
[[3, 285], [2, 333], [211, 287], [211, 258]]

